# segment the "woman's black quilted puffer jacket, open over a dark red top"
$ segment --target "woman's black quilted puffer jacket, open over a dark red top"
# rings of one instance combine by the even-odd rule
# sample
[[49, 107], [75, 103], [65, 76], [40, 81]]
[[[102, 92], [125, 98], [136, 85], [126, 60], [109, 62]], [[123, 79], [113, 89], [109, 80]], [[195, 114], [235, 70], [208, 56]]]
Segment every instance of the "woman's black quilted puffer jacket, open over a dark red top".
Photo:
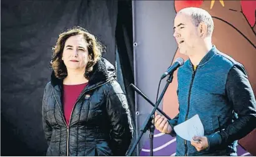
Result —
[[62, 80], [52, 73], [42, 100], [47, 156], [124, 156], [132, 139], [126, 96], [115, 69], [99, 60], [72, 110], [67, 126], [62, 108]]

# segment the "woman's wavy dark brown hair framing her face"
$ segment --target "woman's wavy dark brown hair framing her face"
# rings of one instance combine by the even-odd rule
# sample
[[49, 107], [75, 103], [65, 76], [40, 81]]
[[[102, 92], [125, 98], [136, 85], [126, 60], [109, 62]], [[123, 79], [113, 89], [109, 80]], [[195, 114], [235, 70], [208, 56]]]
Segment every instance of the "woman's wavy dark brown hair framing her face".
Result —
[[97, 40], [94, 35], [90, 34], [86, 31], [86, 29], [83, 29], [79, 26], [67, 29], [67, 31], [59, 34], [56, 45], [54, 45], [54, 47], [52, 48], [53, 55], [50, 65], [54, 70], [55, 76], [58, 79], [64, 79], [65, 77], [67, 77], [67, 68], [62, 60], [62, 54], [66, 40], [69, 37], [76, 35], [82, 35], [87, 42], [89, 60], [86, 65], [86, 72], [84, 73], [84, 77], [86, 77], [86, 79], [89, 79], [89, 73], [92, 72], [92, 67], [96, 64], [97, 60], [101, 58], [104, 46], [101, 45], [99, 40]]

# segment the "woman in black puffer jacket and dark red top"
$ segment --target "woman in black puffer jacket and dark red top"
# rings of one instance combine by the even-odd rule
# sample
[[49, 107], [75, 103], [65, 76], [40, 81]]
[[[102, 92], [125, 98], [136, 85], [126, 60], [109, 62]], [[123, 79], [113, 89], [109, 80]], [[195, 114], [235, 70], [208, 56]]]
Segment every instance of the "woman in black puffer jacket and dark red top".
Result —
[[126, 96], [92, 34], [74, 27], [53, 48], [42, 101], [47, 156], [124, 156], [132, 139]]

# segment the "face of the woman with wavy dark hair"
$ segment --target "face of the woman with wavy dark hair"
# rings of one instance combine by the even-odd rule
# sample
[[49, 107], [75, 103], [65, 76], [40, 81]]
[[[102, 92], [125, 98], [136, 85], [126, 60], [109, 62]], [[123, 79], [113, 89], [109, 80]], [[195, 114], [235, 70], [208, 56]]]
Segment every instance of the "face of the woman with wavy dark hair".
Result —
[[69, 70], [84, 71], [89, 60], [87, 42], [82, 35], [69, 37], [64, 45], [62, 60]]

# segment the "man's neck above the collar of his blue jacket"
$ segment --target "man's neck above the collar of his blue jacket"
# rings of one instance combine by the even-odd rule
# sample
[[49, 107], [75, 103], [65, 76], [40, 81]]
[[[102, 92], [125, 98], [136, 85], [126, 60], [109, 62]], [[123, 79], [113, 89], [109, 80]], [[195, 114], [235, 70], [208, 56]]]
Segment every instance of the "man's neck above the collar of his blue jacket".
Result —
[[190, 54], [189, 59], [194, 66], [199, 65], [200, 61], [204, 56], [212, 49], [212, 44], [210, 42], [204, 43], [203, 45], [196, 47]]

